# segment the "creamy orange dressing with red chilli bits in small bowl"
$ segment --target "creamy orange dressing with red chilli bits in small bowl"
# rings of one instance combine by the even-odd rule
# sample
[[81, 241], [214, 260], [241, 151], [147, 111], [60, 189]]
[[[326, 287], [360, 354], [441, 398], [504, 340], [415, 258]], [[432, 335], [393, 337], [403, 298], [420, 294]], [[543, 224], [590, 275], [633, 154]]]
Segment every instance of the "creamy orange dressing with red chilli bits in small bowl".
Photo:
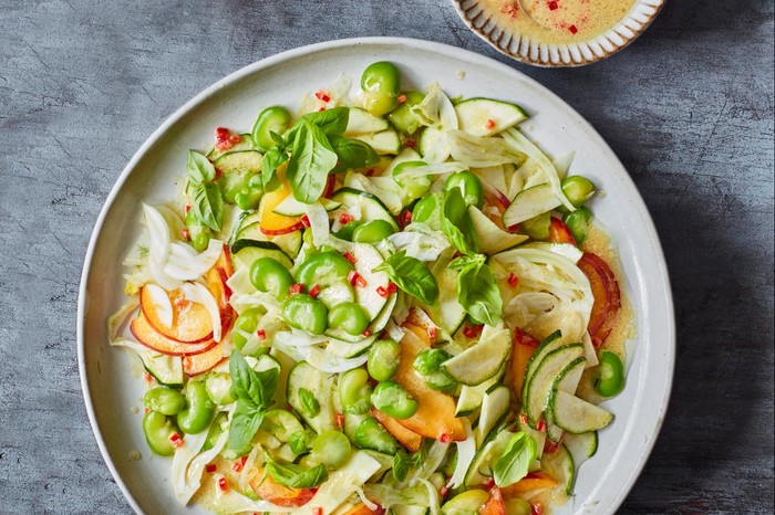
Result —
[[499, 23], [539, 43], [588, 41], [614, 27], [633, 0], [483, 0]]

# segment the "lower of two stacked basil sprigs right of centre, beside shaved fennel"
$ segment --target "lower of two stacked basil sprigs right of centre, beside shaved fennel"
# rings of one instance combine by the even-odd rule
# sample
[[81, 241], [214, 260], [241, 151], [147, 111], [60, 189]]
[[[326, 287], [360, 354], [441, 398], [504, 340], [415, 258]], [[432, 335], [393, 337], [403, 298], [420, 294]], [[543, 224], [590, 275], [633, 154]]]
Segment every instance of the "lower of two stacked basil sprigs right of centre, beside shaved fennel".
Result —
[[457, 270], [457, 301], [475, 319], [494, 326], [503, 313], [503, 298], [484, 254], [463, 255], [450, 263]]

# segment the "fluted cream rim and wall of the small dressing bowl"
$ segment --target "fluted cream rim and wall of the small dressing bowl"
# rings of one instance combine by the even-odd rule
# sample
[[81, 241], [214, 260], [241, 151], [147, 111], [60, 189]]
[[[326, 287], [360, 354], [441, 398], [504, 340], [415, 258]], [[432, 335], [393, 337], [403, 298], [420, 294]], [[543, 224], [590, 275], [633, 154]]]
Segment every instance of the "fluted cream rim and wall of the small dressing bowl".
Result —
[[638, 0], [616, 25], [601, 34], [579, 43], [549, 44], [517, 32], [499, 20], [484, 0], [452, 0], [465, 24], [495, 50], [523, 63], [547, 67], [582, 66], [613, 55], [651, 24], [664, 2]]

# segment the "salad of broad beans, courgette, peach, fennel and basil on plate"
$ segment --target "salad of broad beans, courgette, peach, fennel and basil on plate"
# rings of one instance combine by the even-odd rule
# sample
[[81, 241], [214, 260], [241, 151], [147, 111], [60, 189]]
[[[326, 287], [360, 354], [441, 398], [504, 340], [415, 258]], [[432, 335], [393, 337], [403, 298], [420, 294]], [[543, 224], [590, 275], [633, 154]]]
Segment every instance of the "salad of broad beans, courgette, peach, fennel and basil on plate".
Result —
[[219, 127], [143, 203], [107, 330], [182, 505], [547, 513], [613, 421], [630, 316], [595, 185], [519, 106], [400, 82]]

